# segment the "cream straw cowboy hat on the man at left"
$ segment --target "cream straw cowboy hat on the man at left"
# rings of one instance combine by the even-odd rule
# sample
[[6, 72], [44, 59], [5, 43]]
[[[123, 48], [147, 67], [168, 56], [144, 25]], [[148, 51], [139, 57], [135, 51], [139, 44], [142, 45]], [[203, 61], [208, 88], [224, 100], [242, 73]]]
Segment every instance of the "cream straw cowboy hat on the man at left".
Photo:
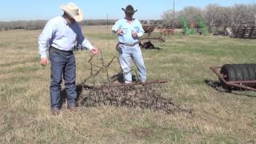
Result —
[[60, 6], [60, 9], [62, 9], [71, 18], [74, 18], [76, 22], [81, 22], [83, 19], [82, 10], [72, 2], [69, 2], [67, 5]]

